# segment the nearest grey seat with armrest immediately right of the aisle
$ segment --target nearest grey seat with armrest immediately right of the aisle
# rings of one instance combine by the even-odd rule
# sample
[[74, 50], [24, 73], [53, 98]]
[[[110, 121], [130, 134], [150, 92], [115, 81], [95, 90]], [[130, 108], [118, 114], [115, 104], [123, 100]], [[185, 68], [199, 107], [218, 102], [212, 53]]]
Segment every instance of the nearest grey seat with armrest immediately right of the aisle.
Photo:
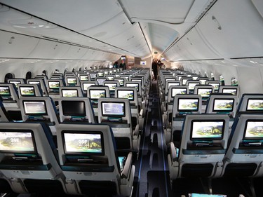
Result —
[[227, 152], [229, 116], [189, 114], [184, 121], [180, 144], [170, 143], [170, 179], [220, 177]]

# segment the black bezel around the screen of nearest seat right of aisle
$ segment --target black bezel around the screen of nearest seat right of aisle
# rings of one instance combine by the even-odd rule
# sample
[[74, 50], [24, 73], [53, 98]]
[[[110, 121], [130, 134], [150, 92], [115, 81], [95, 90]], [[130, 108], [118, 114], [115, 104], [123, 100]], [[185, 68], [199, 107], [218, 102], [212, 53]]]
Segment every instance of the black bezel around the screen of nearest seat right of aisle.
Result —
[[[221, 137], [193, 137], [193, 126], [194, 126], [194, 122], [211, 122], [211, 123], [215, 123], [215, 122], [222, 122], [222, 135]], [[223, 140], [224, 139], [224, 127], [225, 127], [225, 123], [226, 121], [224, 119], [219, 119], [219, 120], [207, 120], [207, 119], [203, 119], [203, 120], [192, 120], [191, 121], [191, 132], [190, 132], [190, 140], [192, 141], [213, 141], [213, 140]]]

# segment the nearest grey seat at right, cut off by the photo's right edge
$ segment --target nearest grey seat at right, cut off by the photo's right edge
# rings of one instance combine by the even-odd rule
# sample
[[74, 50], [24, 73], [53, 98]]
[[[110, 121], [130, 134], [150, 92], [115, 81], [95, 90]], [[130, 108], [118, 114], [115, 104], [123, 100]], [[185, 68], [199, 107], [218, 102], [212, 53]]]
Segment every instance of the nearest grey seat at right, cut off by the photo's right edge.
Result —
[[261, 177], [263, 175], [263, 117], [243, 112], [237, 115], [227, 153], [224, 156], [224, 177]]

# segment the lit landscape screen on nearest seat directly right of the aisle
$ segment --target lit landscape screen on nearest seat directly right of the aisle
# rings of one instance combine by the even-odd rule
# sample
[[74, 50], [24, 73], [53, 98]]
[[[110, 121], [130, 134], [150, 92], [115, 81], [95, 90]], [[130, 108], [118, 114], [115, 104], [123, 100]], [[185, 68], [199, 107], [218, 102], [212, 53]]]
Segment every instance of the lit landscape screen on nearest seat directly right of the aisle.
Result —
[[193, 121], [191, 138], [222, 138], [224, 121]]

